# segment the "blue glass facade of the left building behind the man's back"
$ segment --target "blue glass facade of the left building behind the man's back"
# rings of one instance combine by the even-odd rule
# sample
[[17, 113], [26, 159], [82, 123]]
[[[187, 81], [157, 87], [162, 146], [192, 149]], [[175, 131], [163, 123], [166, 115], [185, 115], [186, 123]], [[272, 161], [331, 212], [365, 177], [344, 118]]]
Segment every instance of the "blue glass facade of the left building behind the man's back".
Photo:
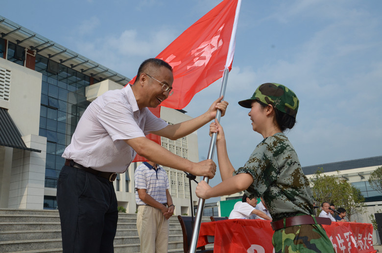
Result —
[[[58, 74], [47, 72], [48, 58], [36, 55], [35, 71], [43, 74], [40, 105], [40, 136], [47, 137], [45, 187], [56, 188], [65, 159], [61, 157], [70, 144], [77, 123], [90, 104], [85, 87], [90, 77], [62, 64]], [[55, 209], [55, 197], [44, 197], [44, 208]]]

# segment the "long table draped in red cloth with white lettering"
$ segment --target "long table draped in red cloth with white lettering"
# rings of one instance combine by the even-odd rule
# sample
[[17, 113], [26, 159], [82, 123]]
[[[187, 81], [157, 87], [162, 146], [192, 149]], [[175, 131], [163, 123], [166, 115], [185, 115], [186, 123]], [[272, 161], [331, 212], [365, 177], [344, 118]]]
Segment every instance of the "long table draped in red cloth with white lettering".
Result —
[[[373, 226], [367, 223], [340, 222], [324, 225], [336, 253], [375, 253]], [[200, 226], [197, 247], [214, 238], [219, 253], [273, 253], [270, 221], [233, 219], [205, 222]]]

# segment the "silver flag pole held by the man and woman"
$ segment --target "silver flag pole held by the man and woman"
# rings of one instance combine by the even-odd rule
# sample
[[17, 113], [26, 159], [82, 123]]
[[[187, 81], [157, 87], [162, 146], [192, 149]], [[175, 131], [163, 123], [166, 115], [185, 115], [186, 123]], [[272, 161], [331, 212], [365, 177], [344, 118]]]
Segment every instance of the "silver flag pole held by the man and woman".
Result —
[[[238, 5], [236, 6], [235, 21], [234, 21], [234, 25], [232, 27], [231, 40], [230, 40], [230, 45], [229, 45], [228, 54], [227, 54], [227, 60], [226, 60], [226, 64], [225, 64], [225, 68], [224, 68], [224, 72], [223, 72], [223, 79], [221, 81], [221, 88], [220, 88], [219, 97], [223, 96], [223, 99], [224, 99], [225, 90], [227, 87], [227, 80], [228, 80], [228, 74], [229, 74], [228, 68], [229, 68], [229, 66], [231, 66], [233, 58], [234, 58], [235, 40], [236, 40], [235, 38], [236, 38], [236, 30], [238, 27], [240, 5], [241, 5], [241, 0], [238, 0]], [[221, 111], [217, 110], [216, 120], [219, 122], [220, 122], [220, 117], [221, 117]], [[217, 133], [213, 133], [211, 136], [210, 148], [208, 150], [207, 159], [213, 159], [214, 158], [216, 136], [217, 136]], [[203, 177], [203, 180], [206, 181], [206, 183], [209, 182], [208, 177]], [[198, 208], [196, 210], [195, 223], [194, 223], [194, 227], [192, 230], [192, 238], [191, 238], [191, 242], [190, 242], [189, 253], [196, 253], [196, 245], [198, 242], [200, 224], [202, 221], [202, 216], [203, 216], [203, 211], [204, 211], [204, 202], [205, 202], [205, 200], [201, 199], [201, 198], [198, 201]]]

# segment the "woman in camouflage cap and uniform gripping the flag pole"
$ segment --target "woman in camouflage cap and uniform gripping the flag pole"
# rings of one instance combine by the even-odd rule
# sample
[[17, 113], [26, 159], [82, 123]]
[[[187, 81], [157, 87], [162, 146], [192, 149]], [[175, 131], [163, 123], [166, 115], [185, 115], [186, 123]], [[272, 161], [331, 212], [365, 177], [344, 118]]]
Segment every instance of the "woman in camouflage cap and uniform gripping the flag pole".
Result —
[[299, 101], [293, 91], [278, 83], [260, 85], [253, 96], [239, 105], [248, 113], [254, 131], [263, 135], [245, 165], [235, 171], [227, 153], [223, 128], [216, 121], [216, 151], [222, 182], [215, 187], [201, 181], [199, 198], [209, 199], [245, 190], [250, 198], [263, 197], [275, 230], [272, 244], [276, 253], [334, 253], [333, 245], [313, 216], [309, 180], [302, 172], [297, 154], [283, 131], [296, 122]]

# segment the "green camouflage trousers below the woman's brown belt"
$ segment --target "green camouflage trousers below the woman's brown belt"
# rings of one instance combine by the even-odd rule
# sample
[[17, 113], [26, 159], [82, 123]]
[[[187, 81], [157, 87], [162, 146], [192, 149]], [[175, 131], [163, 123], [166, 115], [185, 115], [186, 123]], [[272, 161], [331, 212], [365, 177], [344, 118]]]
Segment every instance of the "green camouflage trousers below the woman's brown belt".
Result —
[[272, 244], [275, 253], [334, 253], [321, 225], [300, 225], [281, 228], [274, 232]]

